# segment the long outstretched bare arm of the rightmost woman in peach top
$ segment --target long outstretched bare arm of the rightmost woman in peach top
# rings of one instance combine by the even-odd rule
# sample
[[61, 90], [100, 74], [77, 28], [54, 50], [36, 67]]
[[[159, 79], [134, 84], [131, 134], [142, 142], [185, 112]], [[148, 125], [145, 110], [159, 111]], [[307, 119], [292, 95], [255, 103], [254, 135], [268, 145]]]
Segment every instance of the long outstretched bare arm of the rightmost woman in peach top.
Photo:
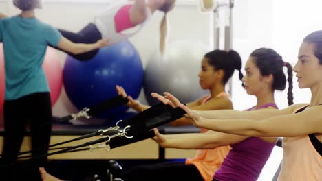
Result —
[[[322, 134], [322, 106], [314, 106], [297, 114], [270, 117], [260, 121], [249, 119], [193, 120], [200, 128], [219, 132], [256, 137], [295, 137], [307, 134]], [[189, 112], [191, 116], [191, 112]]]

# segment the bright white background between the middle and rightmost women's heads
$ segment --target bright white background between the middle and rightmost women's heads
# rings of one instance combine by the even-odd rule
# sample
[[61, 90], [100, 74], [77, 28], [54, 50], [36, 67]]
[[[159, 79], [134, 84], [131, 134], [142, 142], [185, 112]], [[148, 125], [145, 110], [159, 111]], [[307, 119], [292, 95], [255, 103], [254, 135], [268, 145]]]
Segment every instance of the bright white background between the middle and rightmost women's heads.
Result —
[[[274, 1], [273, 45], [285, 61], [295, 65], [297, 52], [305, 36], [322, 29], [322, 1]], [[308, 103], [310, 90], [300, 90], [294, 78], [294, 102]]]

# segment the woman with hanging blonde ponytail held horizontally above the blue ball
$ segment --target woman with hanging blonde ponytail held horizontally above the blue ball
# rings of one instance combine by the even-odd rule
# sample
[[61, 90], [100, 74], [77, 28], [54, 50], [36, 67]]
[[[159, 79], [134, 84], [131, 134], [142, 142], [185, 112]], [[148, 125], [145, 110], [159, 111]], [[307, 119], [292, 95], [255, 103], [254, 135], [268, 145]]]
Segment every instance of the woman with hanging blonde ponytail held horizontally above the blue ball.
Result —
[[[96, 14], [94, 21], [84, 27], [81, 32], [58, 30], [65, 38], [77, 43], [94, 43], [101, 38], [107, 38], [111, 44], [114, 44], [139, 32], [151, 15], [156, 10], [160, 10], [164, 12], [160, 27], [160, 51], [162, 53], [168, 31], [166, 15], [167, 12], [173, 10], [174, 6], [175, 0], [134, 0], [133, 3], [128, 0], [117, 0], [111, 3], [107, 9]], [[127, 29], [129, 32], [123, 32]], [[96, 56], [98, 51], [97, 49], [71, 56], [78, 60], [90, 60]]]

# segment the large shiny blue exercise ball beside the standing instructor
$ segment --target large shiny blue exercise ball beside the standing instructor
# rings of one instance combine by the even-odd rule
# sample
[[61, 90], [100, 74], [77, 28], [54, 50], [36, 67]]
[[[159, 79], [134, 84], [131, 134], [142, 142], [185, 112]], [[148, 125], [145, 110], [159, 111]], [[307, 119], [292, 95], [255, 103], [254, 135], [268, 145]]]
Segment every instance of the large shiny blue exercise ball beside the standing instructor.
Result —
[[[68, 56], [63, 69], [63, 84], [67, 97], [78, 110], [89, 108], [118, 95], [116, 85], [123, 86], [136, 99], [143, 84], [143, 67], [138, 51], [128, 40], [101, 48], [88, 61]], [[94, 115], [111, 118], [122, 114], [127, 106]]]

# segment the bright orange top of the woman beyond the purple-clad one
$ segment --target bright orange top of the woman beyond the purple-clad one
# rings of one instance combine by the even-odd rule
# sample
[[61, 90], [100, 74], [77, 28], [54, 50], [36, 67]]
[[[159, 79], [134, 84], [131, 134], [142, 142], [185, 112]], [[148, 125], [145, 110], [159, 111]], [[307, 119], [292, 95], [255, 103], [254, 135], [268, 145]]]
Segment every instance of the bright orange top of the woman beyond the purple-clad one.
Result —
[[[219, 93], [216, 97], [228, 97], [230, 99], [230, 95], [227, 93]], [[207, 97], [210, 99], [211, 97]], [[208, 101], [205, 99], [204, 102]], [[204, 133], [207, 132], [206, 129], [200, 129], [200, 132]], [[226, 158], [227, 154], [229, 153], [231, 147], [229, 145], [216, 147], [215, 149], [200, 149], [197, 151], [197, 154], [194, 158], [186, 159], [186, 164], [193, 164], [199, 170], [202, 178], [206, 181], [213, 180], [213, 174], [217, 169], [219, 169], [220, 165]]]

